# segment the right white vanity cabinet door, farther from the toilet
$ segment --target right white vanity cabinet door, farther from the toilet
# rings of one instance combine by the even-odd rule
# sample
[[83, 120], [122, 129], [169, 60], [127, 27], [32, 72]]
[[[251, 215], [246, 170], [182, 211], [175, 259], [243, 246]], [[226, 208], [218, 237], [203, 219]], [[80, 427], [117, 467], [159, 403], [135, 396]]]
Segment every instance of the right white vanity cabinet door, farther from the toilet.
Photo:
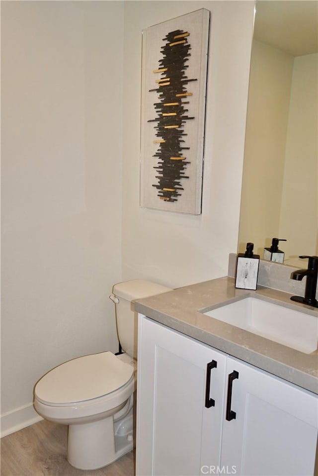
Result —
[[227, 375], [222, 466], [244, 476], [314, 475], [317, 395], [232, 357]]

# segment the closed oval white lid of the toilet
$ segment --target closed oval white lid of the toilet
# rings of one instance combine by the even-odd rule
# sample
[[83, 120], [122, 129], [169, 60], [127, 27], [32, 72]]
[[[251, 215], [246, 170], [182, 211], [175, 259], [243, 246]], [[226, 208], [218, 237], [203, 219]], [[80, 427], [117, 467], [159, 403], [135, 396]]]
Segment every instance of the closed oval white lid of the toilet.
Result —
[[80, 402], [118, 390], [133, 374], [133, 366], [102, 352], [59, 365], [38, 381], [34, 391], [39, 400], [52, 405]]

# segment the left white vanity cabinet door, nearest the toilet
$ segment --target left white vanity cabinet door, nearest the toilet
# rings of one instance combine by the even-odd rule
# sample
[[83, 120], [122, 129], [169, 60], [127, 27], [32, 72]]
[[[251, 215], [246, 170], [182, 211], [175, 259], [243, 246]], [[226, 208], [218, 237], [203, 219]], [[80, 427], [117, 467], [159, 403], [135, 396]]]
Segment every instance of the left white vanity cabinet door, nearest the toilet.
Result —
[[138, 476], [195, 476], [219, 465], [225, 365], [225, 354], [139, 316]]

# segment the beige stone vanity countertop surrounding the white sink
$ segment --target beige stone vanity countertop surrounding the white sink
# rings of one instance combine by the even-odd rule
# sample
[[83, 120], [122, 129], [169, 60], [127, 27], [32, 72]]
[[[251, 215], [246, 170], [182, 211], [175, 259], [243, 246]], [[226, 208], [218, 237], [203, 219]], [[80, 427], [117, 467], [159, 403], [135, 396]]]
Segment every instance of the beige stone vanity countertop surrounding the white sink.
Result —
[[[202, 311], [257, 294], [318, 319], [318, 310], [291, 301], [287, 292], [257, 286], [256, 291], [236, 289], [234, 278], [224, 277], [137, 299], [135, 310], [176, 331], [219, 349], [282, 379], [318, 393], [318, 351], [294, 350], [264, 337], [213, 319]], [[199, 312], [201, 311], [201, 312]]]

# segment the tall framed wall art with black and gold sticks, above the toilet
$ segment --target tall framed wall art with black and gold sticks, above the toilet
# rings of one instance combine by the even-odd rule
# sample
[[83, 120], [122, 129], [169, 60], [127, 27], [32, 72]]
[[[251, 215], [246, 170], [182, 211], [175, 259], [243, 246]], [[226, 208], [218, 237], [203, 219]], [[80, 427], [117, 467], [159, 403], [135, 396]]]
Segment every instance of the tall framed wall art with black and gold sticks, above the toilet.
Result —
[[140, 205], [201, 214], [210, 12], [143, 30]]

